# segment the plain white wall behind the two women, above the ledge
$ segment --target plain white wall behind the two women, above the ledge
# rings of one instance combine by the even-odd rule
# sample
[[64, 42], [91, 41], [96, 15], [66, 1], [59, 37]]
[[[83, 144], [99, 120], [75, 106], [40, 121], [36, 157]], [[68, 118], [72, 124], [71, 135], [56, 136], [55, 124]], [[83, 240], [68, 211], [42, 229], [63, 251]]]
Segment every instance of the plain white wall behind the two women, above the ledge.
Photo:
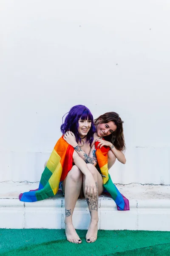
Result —
[[116, 183], [170, 184], [170, 2], [0, 0], [0, 181], [38, 181], [77, 104], [125, 121]]

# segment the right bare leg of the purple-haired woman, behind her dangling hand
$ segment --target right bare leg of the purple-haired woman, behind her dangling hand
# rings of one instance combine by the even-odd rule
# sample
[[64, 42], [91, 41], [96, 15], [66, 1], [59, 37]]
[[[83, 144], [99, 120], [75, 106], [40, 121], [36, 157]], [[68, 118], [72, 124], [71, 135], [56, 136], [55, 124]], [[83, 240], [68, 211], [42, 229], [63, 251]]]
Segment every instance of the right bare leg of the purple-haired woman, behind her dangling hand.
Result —
[[[98, 231], [98, 195], [101, 195], [103, 192], [103, 179], [102, 176], [97, 171], [96, 167], [94, 167], [92, 164], [87, 164], [88, 169], [90, 170], [91, 174], [94, 177], [94, 180], [96, 182], [97, 187], [97, 196], [96, 197], [90, 197], [89, 195], [85, 195], [86, 201], [88, 203], [88, 209], [91, 214], [91, 222], [88, 228], [88, 232], [86, 234], [86, 241], [88, 243], [92, 243], [96, 241], [97, 239], [97, 231]], [[85, 191], [85, 177], [83, 176], [83, 190]]]

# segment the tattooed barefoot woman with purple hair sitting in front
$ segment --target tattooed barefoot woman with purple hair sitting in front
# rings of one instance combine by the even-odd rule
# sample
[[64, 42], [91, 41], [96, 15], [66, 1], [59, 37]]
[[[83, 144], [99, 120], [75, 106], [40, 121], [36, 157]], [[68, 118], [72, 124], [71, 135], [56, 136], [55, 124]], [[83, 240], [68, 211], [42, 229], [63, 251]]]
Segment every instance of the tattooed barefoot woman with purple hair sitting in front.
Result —
[[[80, 165], [80, 160], [82, 161], [82, 159], [76, 152], [76, 149], [79, 152], [83, 147], [84, 153], [88, 156], [91, 151], [91, 146], [94, 141], [95, 126], [93, 116], [89, 109], [83, 105], [72, 107], [61, 125], [61, 131], [66, 141], [67, 137], [74, 134], [74, 141], [77, 144], [73, 154], [75, 165], [62, 182], [62, 189], [65, 193], [65, 233], [67, 240], [73, 243], [81, 243], [72, 224], [72, 214], [79, 195], [83, 195], [84, 192], [91, 213], [91, 223], [86, 235], [86, 241], [94, 242], [97, 238], [97, 224], [99, 219], [98, 193], [99, 195], [102, 193], [103, 181], [99, 172], [94, 172], [94, 166], [92, 164], [85, 164], [87, 169], [82, 169]], [[71, 137], [73, 136], [71, 135]], [[83, 161], [83, 163], [85, 162]], [[91, 204], [89, 204], [89, 198], [93, 201], [93, 209], [91, 209]]]

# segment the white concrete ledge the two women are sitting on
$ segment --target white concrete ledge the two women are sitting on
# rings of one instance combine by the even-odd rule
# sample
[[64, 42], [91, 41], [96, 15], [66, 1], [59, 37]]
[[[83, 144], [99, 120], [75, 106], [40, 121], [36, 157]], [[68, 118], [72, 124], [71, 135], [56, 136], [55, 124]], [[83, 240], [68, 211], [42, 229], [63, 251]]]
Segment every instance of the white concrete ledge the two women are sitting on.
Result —
[[[20, 202], [20, 192], [36, 189], [38, 183], [0, 183], [0, 228], [64, 228], [64, 197], [34, 203]], [[170, 186], [117, 185], [129, 199], [130, 211], [117, 211], [115, 202], [99, 197], [99, 229], [170, 231]], [[150, 198], [150, 194], [153, 198]], [[88, 229], [90, 215], [85, 199], [79, 199], [73, 214], [74, 227]]]

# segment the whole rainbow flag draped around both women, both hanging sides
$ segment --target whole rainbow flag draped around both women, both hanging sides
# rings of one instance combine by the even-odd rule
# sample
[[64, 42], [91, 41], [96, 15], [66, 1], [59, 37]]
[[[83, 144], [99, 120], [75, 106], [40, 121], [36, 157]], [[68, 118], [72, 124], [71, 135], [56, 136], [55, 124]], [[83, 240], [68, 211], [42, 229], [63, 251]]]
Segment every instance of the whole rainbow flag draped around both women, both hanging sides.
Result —
[[[99, 142], [95, 143], [95, 147]], [[113, 184], [108, 173], [108, 150], [109, 147], [103, 146], [96, 148], [96, 157], [103, 177], [103, 186], [106, 193], [111, 195], [116, 202], [118, 210], [129, 210], [129, 201], [125, 198]], [[73, 166], [74, 148], [69, 145], [63, 136], [57, 141], [47, 165], [42, 173], [39, 188], [24, 192], [19, 195], [20, 201], [35, 202], [57, 194], [59, 182], [64, 180]]]

